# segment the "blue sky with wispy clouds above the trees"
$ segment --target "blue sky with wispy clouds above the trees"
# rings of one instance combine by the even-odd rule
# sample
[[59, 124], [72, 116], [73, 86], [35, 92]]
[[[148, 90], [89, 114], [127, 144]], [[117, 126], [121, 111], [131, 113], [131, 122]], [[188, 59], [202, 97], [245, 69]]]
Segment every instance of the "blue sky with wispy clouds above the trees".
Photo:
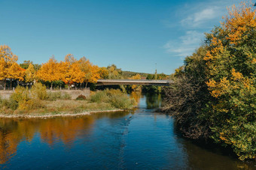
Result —
[[71, 53], [99, 67], [174, 73], [235, 0], [0, 0], [0, 44], [19, 63]]

